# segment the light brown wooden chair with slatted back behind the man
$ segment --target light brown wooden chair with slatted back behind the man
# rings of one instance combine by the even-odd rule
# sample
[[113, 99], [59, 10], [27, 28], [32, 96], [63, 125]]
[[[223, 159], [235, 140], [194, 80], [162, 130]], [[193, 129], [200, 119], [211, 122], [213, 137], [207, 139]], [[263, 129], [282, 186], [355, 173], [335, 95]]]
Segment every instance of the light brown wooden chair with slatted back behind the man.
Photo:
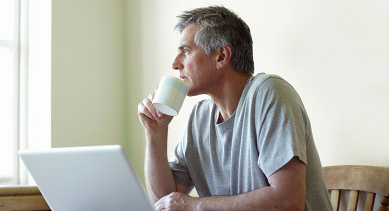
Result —
[[341, 190], [350, 190], [347, 211], [356, 210], [360, 191], [367, 192], [364, 211], [372, 211], [376, 194], [382, 195], [378, 211], [388, 211], [389, 168], [371, 166], [323, 167], [327, 188], [331, 190], [331, 203], [339, 210]]

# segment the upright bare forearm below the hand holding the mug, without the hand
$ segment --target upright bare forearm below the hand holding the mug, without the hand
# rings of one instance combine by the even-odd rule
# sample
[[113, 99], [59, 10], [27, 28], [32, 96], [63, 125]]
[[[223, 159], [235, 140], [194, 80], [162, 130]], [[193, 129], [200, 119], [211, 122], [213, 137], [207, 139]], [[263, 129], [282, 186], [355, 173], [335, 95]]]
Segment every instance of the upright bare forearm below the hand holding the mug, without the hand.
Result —
[[167, 128], [146, 132], [145, 177], [148, 195], [155, 203], [176, 191], [176, 183], [167, 160]]

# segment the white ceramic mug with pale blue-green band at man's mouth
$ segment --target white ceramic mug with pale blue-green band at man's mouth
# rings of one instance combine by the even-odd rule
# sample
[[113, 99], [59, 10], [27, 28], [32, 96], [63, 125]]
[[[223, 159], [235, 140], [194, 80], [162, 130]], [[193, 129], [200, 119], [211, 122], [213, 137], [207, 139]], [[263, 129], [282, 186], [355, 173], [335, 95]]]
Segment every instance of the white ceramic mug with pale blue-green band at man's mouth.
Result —
[[175, 116], [180, 111], [188, 90], [188, 84], [179, 78], [163, 76], [158, 85], [152, 105], [161, 113]]

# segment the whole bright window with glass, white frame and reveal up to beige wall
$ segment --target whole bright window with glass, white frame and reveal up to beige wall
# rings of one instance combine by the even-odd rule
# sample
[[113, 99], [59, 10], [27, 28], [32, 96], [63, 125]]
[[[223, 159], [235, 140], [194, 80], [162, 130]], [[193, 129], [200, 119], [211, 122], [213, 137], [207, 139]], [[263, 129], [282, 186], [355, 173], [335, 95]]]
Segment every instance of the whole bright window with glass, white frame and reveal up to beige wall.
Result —
[[19, 149], [51, 143], [51, 1], [0, 1], [0, 184], [34, 184]]

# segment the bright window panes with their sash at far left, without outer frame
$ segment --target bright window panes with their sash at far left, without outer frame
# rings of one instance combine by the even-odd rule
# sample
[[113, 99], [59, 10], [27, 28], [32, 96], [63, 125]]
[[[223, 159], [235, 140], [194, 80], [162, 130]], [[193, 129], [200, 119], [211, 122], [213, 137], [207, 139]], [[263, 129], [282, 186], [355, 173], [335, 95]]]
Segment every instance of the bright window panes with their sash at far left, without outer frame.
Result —
[[19, 5], [0, 1], [0, 182], [17, 181]]

